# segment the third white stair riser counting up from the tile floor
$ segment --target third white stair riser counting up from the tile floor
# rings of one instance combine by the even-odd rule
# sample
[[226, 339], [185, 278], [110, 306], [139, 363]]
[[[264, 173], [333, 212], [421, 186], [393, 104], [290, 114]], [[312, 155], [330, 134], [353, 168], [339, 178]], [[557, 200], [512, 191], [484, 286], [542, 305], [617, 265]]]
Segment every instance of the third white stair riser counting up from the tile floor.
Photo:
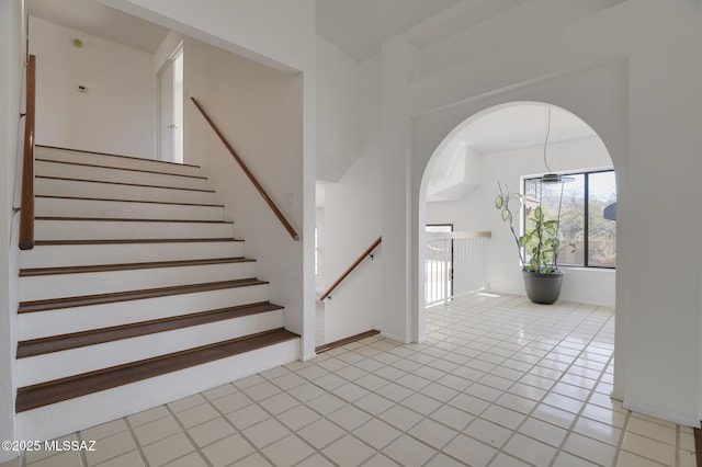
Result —
[[268, 284], [20, 314], [18, 340], [46, 338], [170, 316], [268, 301]]

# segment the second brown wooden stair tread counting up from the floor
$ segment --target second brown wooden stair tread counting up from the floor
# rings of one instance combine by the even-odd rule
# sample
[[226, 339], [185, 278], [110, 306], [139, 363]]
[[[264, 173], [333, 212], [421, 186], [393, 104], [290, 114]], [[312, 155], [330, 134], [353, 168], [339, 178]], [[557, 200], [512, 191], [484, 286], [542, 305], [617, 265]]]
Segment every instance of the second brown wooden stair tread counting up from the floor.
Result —
[[262, 301], [258, 304], [241, 305], [236, 307], [219, 308], [181, 316], [171, 316], [149, 321], [134, 322], [129, 324], [114, 326], [110, 328], [92, 329], [89, 331], [73, 332], [70, 334], [52, 335], [42, 339], [32, 339], [18, 343], [18, 358], [43, 355], [52, 352], [60, 352], [68, 349], [77, 349], [157, 332], [172, 331], [192, 326], [206, 324], [208, 322], [225, 319], [240, 318], [260, 312], [283, 309], [280, 305]]

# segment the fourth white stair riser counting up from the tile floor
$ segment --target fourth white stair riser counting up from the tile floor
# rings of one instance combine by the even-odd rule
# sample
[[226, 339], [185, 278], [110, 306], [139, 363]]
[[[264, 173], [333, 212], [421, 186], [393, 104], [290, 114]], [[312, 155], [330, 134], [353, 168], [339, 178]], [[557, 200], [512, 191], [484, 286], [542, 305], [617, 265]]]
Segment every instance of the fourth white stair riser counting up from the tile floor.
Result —
[[20, 277], [20, 301], [256, 277], [256, 262]]

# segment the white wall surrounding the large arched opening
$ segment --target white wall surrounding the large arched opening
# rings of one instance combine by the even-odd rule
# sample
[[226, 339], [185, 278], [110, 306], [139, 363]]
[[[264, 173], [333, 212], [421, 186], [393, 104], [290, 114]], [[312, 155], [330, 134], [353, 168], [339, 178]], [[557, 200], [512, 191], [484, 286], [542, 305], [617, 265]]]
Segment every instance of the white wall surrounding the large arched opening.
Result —
[[[384, 216], [383, 253], [384, 264], [393, 264], [383, 272], [385, 319], [398, 332], [404, 328], [403, 335], [423, 335], [412, 260], [426, 220], [418, 201], [427, 162], [444, 137], [496, 104], [562, 106], [602, 137], [618, 173], [614, 395], [633, 410], [698, 424], [701, 298], [686, 284], [700, 283], [702, 262], [701, 160], [692, 156], [702, 147], [700, 4], [587, 3], [585, 11], [577, 0], [534, 0], [497, 12], [480, 23], [483, 39], [465, 44], [465, 55], [444, 54], [442, 64], [409, 83], [428, 50], [415, 45], [417, 37], [441, 37], [441, 21], [471, 2], [384, 44], [383, 213], [390, 214]], [[563, 18], [564, 10], [577, 14]], [[510, 27], [519, 18], [547, 27]], [[434, 44], [432, 54], [448, 50], [440, 39]], [[661, 221], [652, 221], [652, 213]], [[676, 241], [656, 248], [671, 225]], [[658, 273], [661, 264], [675, 274]], [[405, 267], [411, 273], [398, 280], [396, 270]]]

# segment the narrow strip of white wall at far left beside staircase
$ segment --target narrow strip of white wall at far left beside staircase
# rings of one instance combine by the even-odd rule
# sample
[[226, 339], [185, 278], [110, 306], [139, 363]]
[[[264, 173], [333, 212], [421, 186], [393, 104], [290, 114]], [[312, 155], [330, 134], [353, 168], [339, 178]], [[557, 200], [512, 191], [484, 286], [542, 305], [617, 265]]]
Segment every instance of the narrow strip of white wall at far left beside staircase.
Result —
[[[16, 349], [18, 225], [12, 215], [19, 205], [15, 194], [18, 153], [22, 147], [24, 125], [20, 125], [20, 89], [24, 68], [20, 1], [0, 0], [0, 440], [14, 440], [14, 361]], [[16, 204], [15, 204], [16, 203]], [[0, 451], [0, 463], [19, 453]]]

